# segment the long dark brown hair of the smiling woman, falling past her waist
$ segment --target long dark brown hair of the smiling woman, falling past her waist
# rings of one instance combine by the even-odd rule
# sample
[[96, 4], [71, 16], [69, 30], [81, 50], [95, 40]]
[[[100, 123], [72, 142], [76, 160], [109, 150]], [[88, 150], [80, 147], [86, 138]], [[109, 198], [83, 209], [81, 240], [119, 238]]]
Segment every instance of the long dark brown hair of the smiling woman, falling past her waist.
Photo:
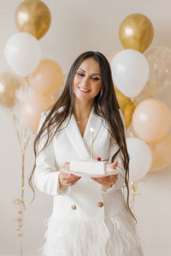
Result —
[[[68, 116], [71, 116], [74, 110], [74, 75], [77, 69], [80, 67], [86, 58], [93, 58], [99, 63], [100, 74], [102, 79], [102, 88], [98, 92], [96, 98], [94, 99], [94, 111], [98, 116], [103, 116], [104, 120], [108, 124], [109, 134], [111, 138], [115, 138], [116, 143], [119, 146], [119, 150], [112, 157], [112, 162], [114, 161], [116, 155], [121, 152], [123, 166], [126, 170], [125, 174], [125, 184], [127, 187], [127, 208], [133, 215], [129, 207], [129, 155], [127, 152], [126, 138], [124, 134], [124, 125], [121, 120], [121, 115], [119, 112], [119, 104], [115, 96], [114, 84], [112, 80], [111, 69], [109, 67], [109, 62], [102, 53], [97, 51], [86, 51], [76, 58], [72, 67], [70, 68], [68, 79], [66, 85], [62, 92], [60, 98], [56, 100], [56, 103], [52, 106], [49, 114], [46, 116], [42, 127], [39, 129], [38, 134], [34, 140], [34, 154], [35, 158], [38, 156], [38, 142], [44, 136], [47, 135], [47, 140], [45, 141], [44, 148], [50, 144], [50, 141], [55, 136], [56, 132], [62, 125], [62, 122], [66, 120]], [[60, 111], [59, 109], [62, 108]], [[36, 164], [34, 164], [31, 176], [29, 178], [29, 185], [33, 190], [32, 186], [32, 175], [35, 170]], [[35, 193], [34, 193], [35, 196]], [[34, 199], [33, 196], [33, 199]]]

